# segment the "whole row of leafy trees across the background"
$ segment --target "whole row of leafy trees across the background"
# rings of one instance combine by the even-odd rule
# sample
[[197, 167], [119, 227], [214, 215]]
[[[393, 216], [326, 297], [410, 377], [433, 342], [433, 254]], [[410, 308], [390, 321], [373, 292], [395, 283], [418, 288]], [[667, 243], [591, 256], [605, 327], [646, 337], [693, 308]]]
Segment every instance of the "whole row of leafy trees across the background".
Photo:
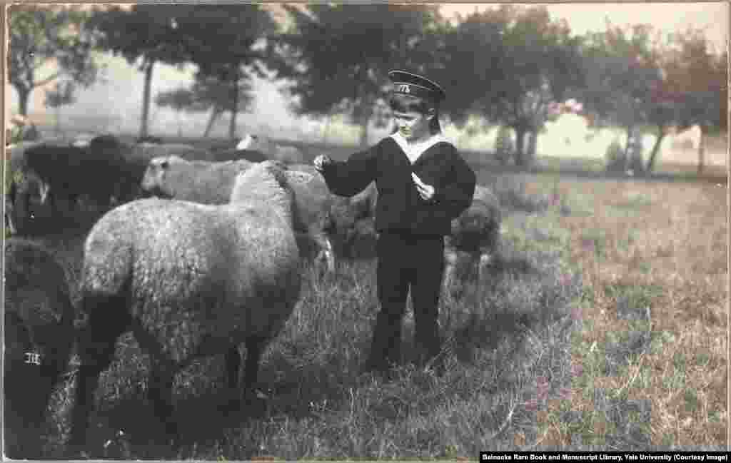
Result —
[[[654, 166], [667, 132], [698, 124], [725, 129], [727, 56], [700, 31], [662, 37], [648, 26], [572, 36], [545, 8], [502, 5], [450, 21], [439, 7], [398, 4], [284, 6], [278, 23], [257, 4], [138, 4], [131, 8], [10, 8], [10, 83], [25, 114], [30, 91], [58, 80], [50, 106], [91, 85], [94, 50], [124, 56], [145, 73], [140, 134], [147, 134], [150, 88], [158, 63], [197, 67], [189, 87], [159, 94], [175, 110], [210, 112], [206, 129], [250, 107], [251, 77], [287, 83], [291, 109], [327, 118], [348, 115], [363, 127], [377, 118], [387, 71], [433, 76], [449, 98], [442, 113], [457, 124], [471, 115], [511, 127], [515, 161], [528, 164], [556, 102], [575, 98], [596, 124], [656, 127]], [[57, 74], [38, 77], [56, 60]], [[526, 144], [526, 139], [528, 140]]]

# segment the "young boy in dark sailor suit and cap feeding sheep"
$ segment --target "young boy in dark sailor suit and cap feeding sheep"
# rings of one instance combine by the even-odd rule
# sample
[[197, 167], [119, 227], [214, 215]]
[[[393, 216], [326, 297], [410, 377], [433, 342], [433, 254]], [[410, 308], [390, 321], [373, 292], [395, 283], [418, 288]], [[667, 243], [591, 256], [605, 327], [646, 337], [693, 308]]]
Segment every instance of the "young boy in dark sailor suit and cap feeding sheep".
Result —
[[317, 156], [315, 168], [328, 188], [353, 196], [375, 181], [377, 286], [381, 310], [364, 370], [384, 372], [398, 362], [401, 318], [412, 291], [415, 344], [420, 364], [440, 351], [439, 291], [444, 235], [472, 202], [475, 175], [442, 135], [439, 103], [444, 90], [417, 74], [388, 73], [396, 131], [347, 161]]

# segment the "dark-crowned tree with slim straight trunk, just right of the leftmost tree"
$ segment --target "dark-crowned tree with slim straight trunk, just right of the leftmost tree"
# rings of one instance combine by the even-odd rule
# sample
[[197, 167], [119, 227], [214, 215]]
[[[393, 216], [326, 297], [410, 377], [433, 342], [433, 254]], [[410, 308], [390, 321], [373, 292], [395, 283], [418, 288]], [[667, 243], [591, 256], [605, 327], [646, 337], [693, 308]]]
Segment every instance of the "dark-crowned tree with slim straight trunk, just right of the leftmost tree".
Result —
[[99, 32], [97, 46], [123, 56], [132, 65], [139, 63], [145, 73], [140, 137], [148, 135], [150, 90], [156, 63], [184, 64], [186, 37], [178, 31], [178, 15], [186, 15], [189, 6], [172, 4], [137, 4], [131, 9], [110, 7], [97, 10], [90, 27]]

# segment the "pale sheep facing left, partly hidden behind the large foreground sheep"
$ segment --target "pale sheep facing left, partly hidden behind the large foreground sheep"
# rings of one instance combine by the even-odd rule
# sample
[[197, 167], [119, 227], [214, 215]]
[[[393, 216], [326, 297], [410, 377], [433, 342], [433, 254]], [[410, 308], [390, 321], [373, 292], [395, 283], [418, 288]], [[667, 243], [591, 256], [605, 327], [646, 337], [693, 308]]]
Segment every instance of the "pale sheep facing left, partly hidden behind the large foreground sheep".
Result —
[[[224, 204], [228, 201], [235, 176], [249, 169], [249, 161], [186, 161], [178, 156], [153, 158], [143, 177], [146, 194], [183, 199], [202, 204]], [[295, 231], [317, 245], [316, 261], [324, 259], [327, 269], [335, 269], [333, 245], [327, 236], [333, 195], [314, 167], [290, 165], [285, 174], [295, 191]]]

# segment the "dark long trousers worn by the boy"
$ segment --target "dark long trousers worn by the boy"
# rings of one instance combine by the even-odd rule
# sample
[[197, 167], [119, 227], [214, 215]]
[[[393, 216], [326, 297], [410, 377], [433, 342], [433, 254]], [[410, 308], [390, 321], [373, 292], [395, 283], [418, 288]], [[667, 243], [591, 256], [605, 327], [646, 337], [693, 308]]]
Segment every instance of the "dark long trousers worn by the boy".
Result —
[[414, 341], [419, 362], [439, 353], [439, 293], [444, 272], [444, 238], [408, 232], [384, 232], [376, 244], [377, 286], [381, 311], [376, 318], [371, 358], [375, 370], [386, 370], [401, 356], [401, 320], [409, 288], [414, 307]]

